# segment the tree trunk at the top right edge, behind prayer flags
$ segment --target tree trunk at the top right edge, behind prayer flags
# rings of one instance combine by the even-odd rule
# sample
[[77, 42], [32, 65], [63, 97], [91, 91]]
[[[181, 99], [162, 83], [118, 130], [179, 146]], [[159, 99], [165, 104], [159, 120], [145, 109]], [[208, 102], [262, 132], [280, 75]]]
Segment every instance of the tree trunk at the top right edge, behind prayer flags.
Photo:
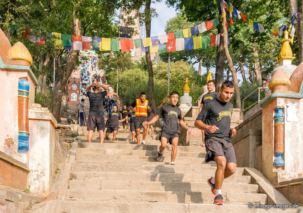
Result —
[[[303, 2], [302, 2], [303, 4]], [[288, 0], [289, 17], [293, 16], [295, 12], [299, 11], [298, 0]], [[295, 23], [296, 35], [298, 37], [299, 48], [299, 64], [303, 61], [303, 14], [300, 12]]]

